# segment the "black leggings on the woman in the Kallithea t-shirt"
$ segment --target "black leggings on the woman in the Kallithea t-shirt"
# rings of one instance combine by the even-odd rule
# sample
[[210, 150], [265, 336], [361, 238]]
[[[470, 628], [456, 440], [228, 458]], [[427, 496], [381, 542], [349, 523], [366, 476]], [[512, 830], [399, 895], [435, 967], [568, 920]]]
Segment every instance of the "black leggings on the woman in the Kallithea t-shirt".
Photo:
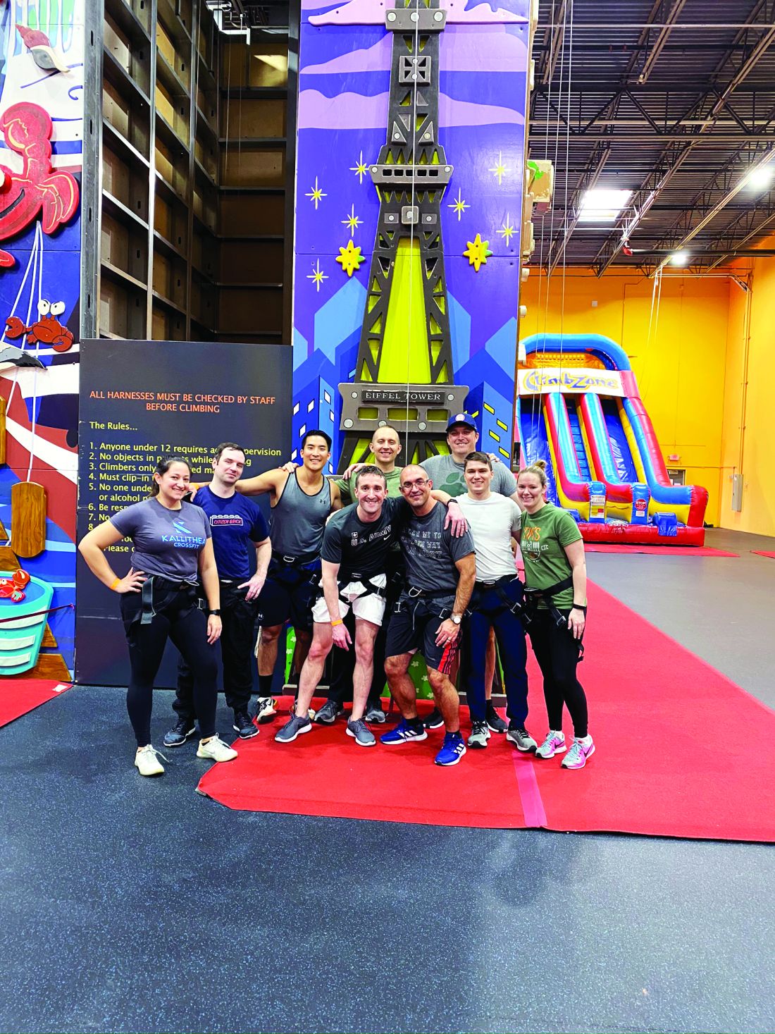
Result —
[[131, 665], [126, 709], [137, 747], [151, 742], [153, 681], [167, 639], [172, 639], [194, 673], [193, 703], [199, 719], [199, 735], [206, 739], [215, 734], [218, 665], [215, 647], [207, 639], [207, 617], [196, 606], [193, 590], [167, 592], [163, 601], [163, 606], [157, 604], [154, 592], [157, 612], [150, 625], [142, 625], [140, 592], [127, 592], [121, 597], [121, 616]]

